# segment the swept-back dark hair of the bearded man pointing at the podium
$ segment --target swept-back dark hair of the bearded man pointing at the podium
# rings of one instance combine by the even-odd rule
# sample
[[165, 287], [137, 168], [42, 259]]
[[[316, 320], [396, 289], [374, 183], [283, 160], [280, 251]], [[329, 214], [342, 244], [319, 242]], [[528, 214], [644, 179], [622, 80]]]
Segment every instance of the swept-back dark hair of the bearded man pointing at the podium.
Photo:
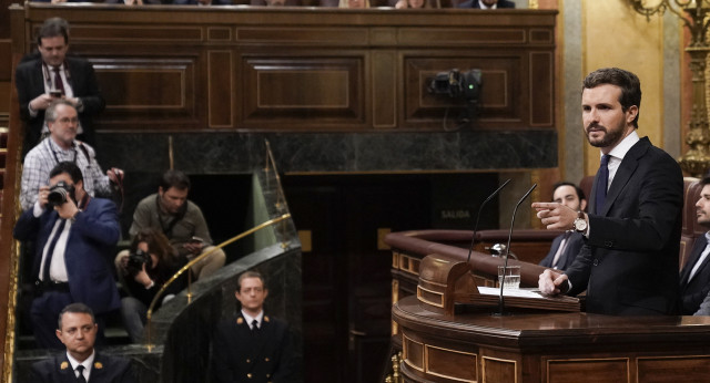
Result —
[[[617, 85], [621, 89], [621, 95], [619, 96], [621, 111], [626, 112], [633, 105], [636, 105], [639, 111], [641, 110], [641, 82], [636, 74], [618, 68], [598, 69], [587, 75], [582, 92], [586, 89], [592, 89], [604, 84]], [[633, 118], [633, 127], [636, 128], [639, 127], [639, 114], [640, 113], [637, 113], [636, 118]]]

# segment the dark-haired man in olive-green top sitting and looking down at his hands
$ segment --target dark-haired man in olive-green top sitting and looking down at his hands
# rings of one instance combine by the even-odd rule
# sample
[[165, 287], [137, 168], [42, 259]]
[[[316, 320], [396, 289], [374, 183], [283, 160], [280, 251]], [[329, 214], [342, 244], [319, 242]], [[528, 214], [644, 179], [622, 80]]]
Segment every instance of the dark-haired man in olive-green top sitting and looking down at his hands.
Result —
[[[161, 177], [158, 194], [152, 194], [138, 204], [129, 234], [133, 238], [145, 228], [159, 230], [168, 237], [178, 253], [189, 260], [212, 251], [190, 269], [195, 279], [202, 279], [224, 266], [226, 256], [222, 249], [211, 246], [207, 222], [200, 207], [187, 199], [187, 193], [190, 178], [184, 173], [165, 172]], [[116, 259], [122, 256], [119, 253]]]

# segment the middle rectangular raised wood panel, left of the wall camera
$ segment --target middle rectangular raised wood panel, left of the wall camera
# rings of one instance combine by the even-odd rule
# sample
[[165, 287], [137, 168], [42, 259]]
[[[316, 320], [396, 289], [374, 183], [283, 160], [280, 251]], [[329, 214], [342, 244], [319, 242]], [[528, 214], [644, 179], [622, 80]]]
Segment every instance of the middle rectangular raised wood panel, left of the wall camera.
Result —
[[307, 130], [312, 124], [363, 124], [366, 58], [246, 58], [246, 125]]

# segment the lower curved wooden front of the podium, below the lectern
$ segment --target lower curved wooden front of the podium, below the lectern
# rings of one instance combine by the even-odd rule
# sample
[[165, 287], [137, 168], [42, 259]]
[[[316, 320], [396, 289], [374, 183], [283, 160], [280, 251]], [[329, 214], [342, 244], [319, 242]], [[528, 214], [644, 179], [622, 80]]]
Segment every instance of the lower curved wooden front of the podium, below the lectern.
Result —
[[709, 317], [489, 311], [445, 315], [416, 297], [393, 306], [406, 382], [707, 382]]

